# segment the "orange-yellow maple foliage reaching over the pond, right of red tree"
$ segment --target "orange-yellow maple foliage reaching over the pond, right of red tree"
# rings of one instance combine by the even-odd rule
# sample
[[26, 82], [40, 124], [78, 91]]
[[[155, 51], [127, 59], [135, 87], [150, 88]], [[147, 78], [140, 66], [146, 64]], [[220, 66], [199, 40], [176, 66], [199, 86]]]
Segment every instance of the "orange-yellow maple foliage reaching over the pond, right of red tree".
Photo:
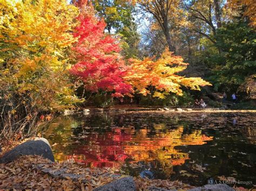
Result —
[[151, 94], [150, 88], [155, 88], [153, 97], [165, 98], [170, 93], [183, 95], [181, 87], [200, 90], [199, 86], [211, 85], [200, 77], [184, 77], [177, 73], [186, 69], [188, 63], [183, 62], [181, 56], [174, 56], [165, 49], [161, 57], [154, 61], [153, 58], [144, 60], [131, 59], [131, 68], [125, 80], [130, 83], [137, 93]]

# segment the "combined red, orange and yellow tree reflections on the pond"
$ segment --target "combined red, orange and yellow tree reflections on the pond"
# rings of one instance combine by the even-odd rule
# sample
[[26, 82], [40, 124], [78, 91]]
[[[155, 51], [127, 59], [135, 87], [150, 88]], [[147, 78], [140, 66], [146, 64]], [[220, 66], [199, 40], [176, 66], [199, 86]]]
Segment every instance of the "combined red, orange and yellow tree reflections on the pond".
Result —
[[[61, 128], [61, 133], [57, 131], [62, 141], [59, 142], [56, 135], [55, 140], [51, 139], [51, 142], [59, 143], [54, 147], [55, 158], [59, 161], [73, 158], [90, 167], [120, 167], [125, 160], [158, 160], [163, 166], [182, 165], [185, 160], [190, 159], [189, 154], [180, 152], [175, 146], [203, 145], [213, 139], [203, 135], [201, 130], [185, 133], [184, 126], [168, 129], [165, 124], [154, 124], [151, 128], [145, 125], [143, 129], [136, 129], [131, 125], [113, 127], [104, 132], [85, 127], [77, 137], [72, 138], [76, 128], [68, 123], [69, 119], [62, 120], [64, 131], [61, 131]], [[50, 126], [48, 133], [53, 131], [56, 132], [56, 125]], [[67, 139], [69, 136], [72, 139]]]

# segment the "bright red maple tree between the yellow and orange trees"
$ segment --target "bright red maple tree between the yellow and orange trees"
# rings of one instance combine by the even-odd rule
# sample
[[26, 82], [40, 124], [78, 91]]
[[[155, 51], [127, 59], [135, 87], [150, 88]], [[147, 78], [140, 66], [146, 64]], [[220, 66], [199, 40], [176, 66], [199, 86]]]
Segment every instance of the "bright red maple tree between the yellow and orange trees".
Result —
[[80, 77], [84, 88], [92, 92], [110, 91], [117, 97], [130, 94], [132, 87], [123, 80], [126, 66], [118, 41], [104, 34], [106, 24], [95, 16], [92, 6], [84, 4], [80, 10], [80, 25], [73, 34], [78, 38], [73, 47], [78, 62], [71, 73]]

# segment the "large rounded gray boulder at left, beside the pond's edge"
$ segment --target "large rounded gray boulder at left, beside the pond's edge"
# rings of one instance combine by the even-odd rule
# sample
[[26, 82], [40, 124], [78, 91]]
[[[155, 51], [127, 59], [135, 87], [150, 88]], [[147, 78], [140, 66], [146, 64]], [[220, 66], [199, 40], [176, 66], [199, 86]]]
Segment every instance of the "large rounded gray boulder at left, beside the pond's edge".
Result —
[[22, 155], [42, 155], [42, 157], [54, 162], [48, 140], [39, 138], [38, 140], [29, 140], [28, 142], [12, 148], [11, 151], [5, 153], [3, 157], [0, 158], [0, 164], [14, 161]]

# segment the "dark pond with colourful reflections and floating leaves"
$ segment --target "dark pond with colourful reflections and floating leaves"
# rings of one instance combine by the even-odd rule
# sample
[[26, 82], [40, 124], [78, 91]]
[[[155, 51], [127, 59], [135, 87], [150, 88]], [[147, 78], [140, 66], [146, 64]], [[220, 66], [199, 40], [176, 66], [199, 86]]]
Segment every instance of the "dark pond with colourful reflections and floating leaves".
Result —
[[193, 186], [214, 180], [251, 188], [255, 118], [255, 113], [93, 112], [57, 117], [44, 137], [58, 161], [73, 158], [86, 167], [115, 167]]

